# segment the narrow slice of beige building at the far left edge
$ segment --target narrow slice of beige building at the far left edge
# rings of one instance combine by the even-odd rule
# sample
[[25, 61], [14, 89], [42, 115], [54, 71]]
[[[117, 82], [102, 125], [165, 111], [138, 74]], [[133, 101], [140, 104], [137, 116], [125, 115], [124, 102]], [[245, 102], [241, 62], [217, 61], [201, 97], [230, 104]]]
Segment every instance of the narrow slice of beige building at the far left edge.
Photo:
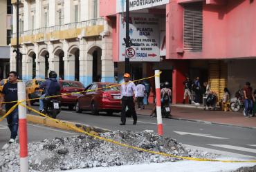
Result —
[[10, 39], [12, 36], [11, 0], [0, 1], [0, 79], [6, 78], [10, 69]]

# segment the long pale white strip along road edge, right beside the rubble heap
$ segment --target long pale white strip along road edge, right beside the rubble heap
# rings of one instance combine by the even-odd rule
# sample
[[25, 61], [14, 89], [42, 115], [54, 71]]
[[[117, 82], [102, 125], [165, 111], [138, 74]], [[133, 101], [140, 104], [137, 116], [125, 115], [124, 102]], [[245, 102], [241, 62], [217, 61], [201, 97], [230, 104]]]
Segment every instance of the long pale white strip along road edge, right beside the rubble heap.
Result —
[[250, 156], [250, 155], [244, 155], [244, 154], [239, 154], [239, 153], [233, 153], [233, 152], [229, 152], [229, 151], [219, 151], [217, 149], [210, 149], [210, 148], [206, 148], [206, 147], [196, 147], [194, 145], [190, 145], [190, 144], [182, 144], [185, 147], [188, 147], [190, 149], [198, 149], [201, 151], [207, 151], [210, 153], [215, 153], [215, 154], [220, 154], [222, 156], [227, 156], [229, 159], [230, 157], [232, 158], [253, 158], [253, 160], [255, 159], [255, 156]]

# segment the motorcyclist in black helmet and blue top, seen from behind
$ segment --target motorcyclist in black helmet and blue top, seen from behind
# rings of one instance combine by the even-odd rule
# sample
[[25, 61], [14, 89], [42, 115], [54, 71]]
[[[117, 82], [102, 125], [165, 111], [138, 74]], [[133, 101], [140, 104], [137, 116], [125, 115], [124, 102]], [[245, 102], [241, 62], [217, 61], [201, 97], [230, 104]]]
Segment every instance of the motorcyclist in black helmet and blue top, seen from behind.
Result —
[[57, 82], [57, 73], [49, 72], [49, 78], [39, 86], [39, 89], [44, 89], [44, 94], [39, 99], [39, 111], [44, 113], [44, 97], [55, 96], [60, 94], [60, 83]]

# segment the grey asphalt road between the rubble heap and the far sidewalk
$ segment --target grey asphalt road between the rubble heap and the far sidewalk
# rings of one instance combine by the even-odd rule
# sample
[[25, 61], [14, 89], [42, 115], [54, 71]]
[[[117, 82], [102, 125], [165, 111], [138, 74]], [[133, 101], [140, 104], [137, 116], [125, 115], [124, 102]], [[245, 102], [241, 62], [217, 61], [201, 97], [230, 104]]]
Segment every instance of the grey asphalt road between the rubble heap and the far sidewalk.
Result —
[[[38, 106], [34, 106], [38, 109]], [[156, 118], [138, 115], [137, 125], [132, 125], [132, 118], [127, 118], [127, 125], [120, 126], [120, 114], [93, 116], [90, 112], [77, 114], [75, 111], [62, 109], [58, 119], [78, 122], [111, 131], [144, 131], [157, 132]], [[183, 120], [163, 119], [164, 136], [176, 139], [189, 147], [211, 150], [216, 153], [241, 155], [245, 158], [256, 158], [256, 129], [204, 124]], [[225, 152], [222, 152], [225, 151]], [[237, 153], [237, 154], [234, 154]]]

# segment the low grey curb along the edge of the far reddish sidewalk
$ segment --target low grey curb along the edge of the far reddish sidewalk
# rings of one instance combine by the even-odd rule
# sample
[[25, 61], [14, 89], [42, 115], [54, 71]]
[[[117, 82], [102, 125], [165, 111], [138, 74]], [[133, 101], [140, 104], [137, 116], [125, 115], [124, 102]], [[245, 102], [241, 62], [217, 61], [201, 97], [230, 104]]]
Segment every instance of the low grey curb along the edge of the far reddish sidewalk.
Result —
[[[145, 114], [137, 114], [137, 115], [148, 116]], [[232, 124], [221, 123], [221, 122], [210, 122], [210, 121], [205, 121], [205, 120], [192, 120], [192, 119], [186, 119], [186, 118], [169, 118], [169, 119], [170, 120], [184, 120], [184, 121], [190, 121], [190, 122], [200, 122], [200, 123], [208, 124], [208, 125], [223, 125], [223, 126], [229, 126], [229, 127], [239, 127], [239, 128], [244, 128], [244, 129], [256, 129], [256, 127], [245, 127], [245, 126], [240, 126], [240, 125], [232, 125]]]

